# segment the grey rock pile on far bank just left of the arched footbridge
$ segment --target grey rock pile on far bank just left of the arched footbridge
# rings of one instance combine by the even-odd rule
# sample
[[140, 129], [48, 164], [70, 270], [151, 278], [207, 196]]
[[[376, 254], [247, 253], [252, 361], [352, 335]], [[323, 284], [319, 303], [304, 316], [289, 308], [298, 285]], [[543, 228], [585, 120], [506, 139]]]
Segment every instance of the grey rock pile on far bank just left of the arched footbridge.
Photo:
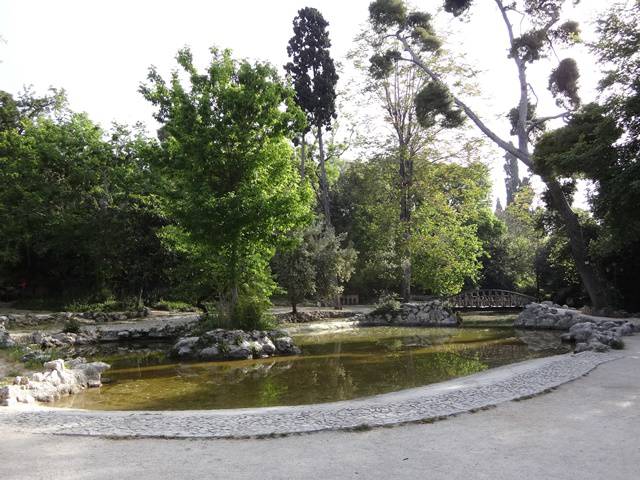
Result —
[[399, 308], [374, 310], [367, 315], [357, 316], [356, 320], [362, 326], [457, 327], [461, 323], [455, 312], [440, 300], [402, 303]]

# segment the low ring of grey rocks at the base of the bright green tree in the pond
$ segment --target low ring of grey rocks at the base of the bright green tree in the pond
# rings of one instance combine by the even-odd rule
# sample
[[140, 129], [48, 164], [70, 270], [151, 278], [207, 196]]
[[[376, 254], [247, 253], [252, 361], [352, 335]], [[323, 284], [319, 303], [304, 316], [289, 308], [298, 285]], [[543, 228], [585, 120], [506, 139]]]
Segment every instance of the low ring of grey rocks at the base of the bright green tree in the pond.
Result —
[[171, 350], [174, 357], [198, 360], [248, 360], [299, 353], [300, 349], [282, 330], [245, 332], [221, 328], [199, 337], [183, 337]]

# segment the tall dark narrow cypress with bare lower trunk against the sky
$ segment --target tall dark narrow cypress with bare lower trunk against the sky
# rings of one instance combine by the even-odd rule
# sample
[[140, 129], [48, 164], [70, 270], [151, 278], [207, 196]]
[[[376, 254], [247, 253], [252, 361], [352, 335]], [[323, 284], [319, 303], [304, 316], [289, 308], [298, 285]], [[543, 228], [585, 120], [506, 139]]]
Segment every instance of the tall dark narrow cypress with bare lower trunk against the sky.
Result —
[[[331, 205], [322, 131], [330, 130], [331, 121], [336, 118], [335, 87], [338, 74], [329, 54], [331, 41], [327, 32], [328, 25], [315, 8], [305, 7], [298, 10], [298, 15], [293, 19], [294, 35], [287, 46], [291, 61], [285, 65], [285, 70], [293, 79], [298, 105], [307, 114], [307, 132], [313, 128], [318, 139], [320, 198], [326, 225], [331, 227]], [[304, 162], [304, 158], [302, 161]]]

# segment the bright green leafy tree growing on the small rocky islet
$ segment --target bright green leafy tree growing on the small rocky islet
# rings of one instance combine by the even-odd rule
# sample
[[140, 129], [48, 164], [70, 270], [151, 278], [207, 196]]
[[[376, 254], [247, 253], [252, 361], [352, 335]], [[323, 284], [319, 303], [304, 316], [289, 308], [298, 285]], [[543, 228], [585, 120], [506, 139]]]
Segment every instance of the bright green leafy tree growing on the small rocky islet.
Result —
[[151, 68], [140, 90], [162, 125], [156, 168], [162, 208], [175, 219], [164, 239], [209, 259], [210, 297], [233, 318], [242, 315], [241, 300], [265, 305], [275, 247], [309, 220], [309, 190], [290, 146], [305, 119], [273, 67], [233, 60], [229, 51], [211, 54], [199, 72], [191, 52], [181, 50], [184, 84], [177, 71], [167, 82]]

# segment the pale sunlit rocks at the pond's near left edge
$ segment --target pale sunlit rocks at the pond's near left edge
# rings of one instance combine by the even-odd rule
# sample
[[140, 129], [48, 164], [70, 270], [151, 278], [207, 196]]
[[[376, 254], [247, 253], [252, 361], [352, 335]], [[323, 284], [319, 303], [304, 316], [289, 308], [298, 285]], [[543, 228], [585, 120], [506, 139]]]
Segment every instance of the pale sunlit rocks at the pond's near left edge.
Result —
[[66, 364], [61, 359], [47, 362], [43, 372], [30, 377], [16, 377], [13, 385], [0, 387], [0, 405], [54, 402], [85, 388], [100, 387], [102, 372], [108, 368], [106, 363], [88, 363], [84, 358], [75, 358]]

